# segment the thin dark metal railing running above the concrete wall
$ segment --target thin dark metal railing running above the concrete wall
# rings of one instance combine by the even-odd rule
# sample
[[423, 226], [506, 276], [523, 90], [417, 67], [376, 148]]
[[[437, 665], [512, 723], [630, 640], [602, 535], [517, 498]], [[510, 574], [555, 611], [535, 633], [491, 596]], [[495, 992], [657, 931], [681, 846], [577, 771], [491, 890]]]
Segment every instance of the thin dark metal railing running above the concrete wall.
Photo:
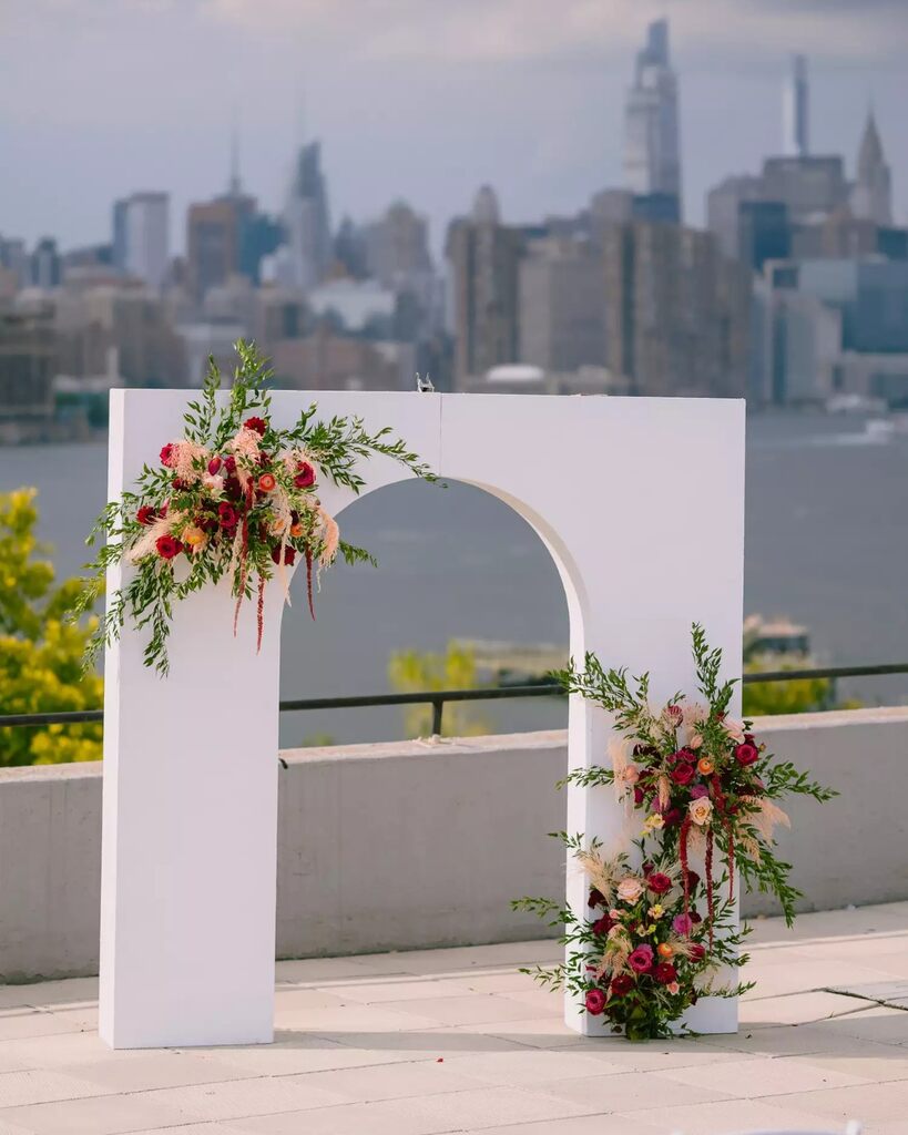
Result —
[[[750, 671], [742, 678], [745, 686], [764, 682], [792, 682], [801, 680], [838, 678], [881, 678], [891, 674], [908, 674], [908, 663], [883, 663], [873, 666], [814, 666], [808, 670]], [[440, 734], [445, 705], [449, 701], [501, 701], [508, 698], [562, 697], [564, 691], [557, 682], [532, 682], [524, 686], [498, 686], [480, 690], [415, 690], [411, 693], [370, 693], [340, 698], [295, 698], [279, 703], [281, 713], [297, 713], [308, 709], [360, 709], [369, 706], [432, 707], [432, 733]], [[83, 722], [102, 722], [103, 709], [73, 709], [61, 713], [19, 713], [0, 716], [0, 729], [35, 725], [73, 725]]]

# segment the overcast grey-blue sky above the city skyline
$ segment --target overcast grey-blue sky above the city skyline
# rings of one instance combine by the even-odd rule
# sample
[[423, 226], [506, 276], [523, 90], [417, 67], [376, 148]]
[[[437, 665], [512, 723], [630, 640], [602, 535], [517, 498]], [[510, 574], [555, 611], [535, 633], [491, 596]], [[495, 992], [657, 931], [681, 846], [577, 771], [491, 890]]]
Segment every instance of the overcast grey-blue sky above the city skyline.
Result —
[[0, 233], [109, 238], [111, 201], [185, 207], [242, 173], [279, 205], [300, 138], [322, 140], [335, 220], [395, 197], [432, 243], [497, 190], [506, 220], [621, 183], [622, 106], [648, 19], [671, 19], [684, 209], [779, 151], [782, 79], [809, 58], [815, 152], [849, 174], [873, 99], [908, 222], [908, 0], [0, 0]]

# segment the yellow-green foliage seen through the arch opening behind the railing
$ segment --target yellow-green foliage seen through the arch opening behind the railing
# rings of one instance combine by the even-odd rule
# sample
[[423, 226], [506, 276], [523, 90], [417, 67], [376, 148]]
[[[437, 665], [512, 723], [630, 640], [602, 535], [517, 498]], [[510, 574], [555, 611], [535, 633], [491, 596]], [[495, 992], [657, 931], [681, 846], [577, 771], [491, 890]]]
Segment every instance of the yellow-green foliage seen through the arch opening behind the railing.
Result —
[[[479, 688], [473, 651], [454, 642], [448, 642], [444, 654], [396, 650], [388, 661], [388, 682], [398, 693]], [[404, 723], [407, 737], [428, 737], [432, 728], [432, 707], [405, 706]], [[488, 721], [477, 715], [469, 703], [446, 703], [442, 716], [444, 737], [481, 737], [490, 731]]]

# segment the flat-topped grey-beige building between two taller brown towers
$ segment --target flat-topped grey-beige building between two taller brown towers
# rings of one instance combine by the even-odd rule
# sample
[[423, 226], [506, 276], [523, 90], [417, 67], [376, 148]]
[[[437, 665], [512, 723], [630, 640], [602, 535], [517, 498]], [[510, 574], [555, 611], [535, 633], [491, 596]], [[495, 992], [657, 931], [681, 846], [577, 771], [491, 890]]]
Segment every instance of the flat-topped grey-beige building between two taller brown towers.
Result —
[[547, 372], [604, 367], [605, 267], [589, 242], [535, 242], [520, 263], [519, 358]]

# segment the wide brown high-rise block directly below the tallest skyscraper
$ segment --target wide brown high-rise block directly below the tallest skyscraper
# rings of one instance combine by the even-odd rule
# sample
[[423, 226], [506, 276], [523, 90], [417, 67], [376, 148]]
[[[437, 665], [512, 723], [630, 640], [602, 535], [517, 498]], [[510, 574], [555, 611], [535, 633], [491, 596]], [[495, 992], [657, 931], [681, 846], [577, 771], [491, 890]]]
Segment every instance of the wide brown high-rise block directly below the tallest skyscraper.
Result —
[[742, 395], [750, 272], [716, 237], [634, 221], [613, 226], [604, 252], [609, 370], [636, 394]]

